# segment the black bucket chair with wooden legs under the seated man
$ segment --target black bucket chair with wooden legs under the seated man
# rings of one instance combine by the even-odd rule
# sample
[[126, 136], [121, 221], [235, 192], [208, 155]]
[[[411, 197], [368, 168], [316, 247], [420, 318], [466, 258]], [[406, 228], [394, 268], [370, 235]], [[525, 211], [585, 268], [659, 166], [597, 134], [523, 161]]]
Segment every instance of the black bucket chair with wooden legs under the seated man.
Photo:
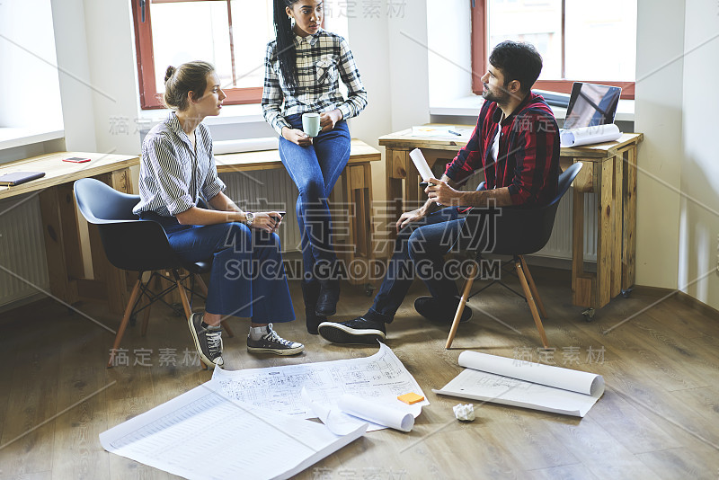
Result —
[[[457, 307], [457, 313], [454, 321], [452, 322], [452, 328], [449, 331], [447, 338], [447, 344], [445, 348], [449, 348], [452, 345], [452, 341], [457, 333], [457, 325], [459, 319], [462, 318], [462, 312], [465, 309], [466, 302], [469, 298], [474, 297], [477, 293], [491, 287], [494, 283], [500, 283], [499, 280], [493, 280], [492, 283], [469, 295], [472, 289], [472, 284], [475, 281], [475, 277], [478, 270], [478, 264], [481, 261], [483, 253], [495, 253], [498, 255], [511, 255], [512, 263], [514, 263], [517, 276], [519, 277], [519, 283], [522, 286], [524, 295], [518, 293], [519, 296], [524, 297], [529, 305], [529, 310], [532, 312], [534, 323], [537, 324], [537, 330], [539, 336], [542, 339], [542, 344], [545, 348], [549, 347], [549, 343], [546, 341], [546, 333], [544, 325], [542, 325], [542, 319], [539, 316], [541, 312], [542, 316], [546, 318], [545, 306], [539, 298], [537, 292], [537, 286], [532, 279], [532, 275], [529, 273], [529, 267], [527, 262], [524, 260], [524, 255], [530, 253], [536, 253], [549, 241], [549, 237], [552, 235], [552, 228], [555, 226], [555, 215], [556, 209], [559, 206], [559, 200], [562, 199], [564, 193], [569, 190], [569, 186], [574, 181], [577, 173], [581, 170], [581, 162], [573, 164], [567, 168], [563, 173], [559, 175], [559, 187], [555, 199], [552, 200], [548, 205], [539, 207], [537, 209], [516, 209], [512, 207], [502, 208], [502, 215], [496, 217], [496, 224], [494, 227], [495, 241], [493, 248], [490, 252], [475, 252], [475, 264], [470, 271], [469, 277], [466, 279], [465, 288], [462, 290], [462, 298], [459, 301]], [[480, 183], [477, 190], [484, 190], [484, 182]], [[507, 287], [510, 289], [509, 287]], [[510, 289], [514, 291], [513, 289]], [[538, 311], [537, 311], [538, 307]]]

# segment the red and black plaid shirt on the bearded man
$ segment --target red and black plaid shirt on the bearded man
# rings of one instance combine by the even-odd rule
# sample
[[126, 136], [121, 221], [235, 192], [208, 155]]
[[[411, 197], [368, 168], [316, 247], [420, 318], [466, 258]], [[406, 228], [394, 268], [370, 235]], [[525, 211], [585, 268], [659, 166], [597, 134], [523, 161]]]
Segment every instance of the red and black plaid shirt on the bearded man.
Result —
[[[445, 174], [461, 182], [484, 169], [487, 190], [509, 187], [512, 205], [546, 205], [555, 198], [559, 178], [559, 128], [541, 95], [529, 93], [500, 123], [502, 109], [484, 102], [469, 142], [447, 165]], [[490, 151], [500, 131], [497, 161]]]

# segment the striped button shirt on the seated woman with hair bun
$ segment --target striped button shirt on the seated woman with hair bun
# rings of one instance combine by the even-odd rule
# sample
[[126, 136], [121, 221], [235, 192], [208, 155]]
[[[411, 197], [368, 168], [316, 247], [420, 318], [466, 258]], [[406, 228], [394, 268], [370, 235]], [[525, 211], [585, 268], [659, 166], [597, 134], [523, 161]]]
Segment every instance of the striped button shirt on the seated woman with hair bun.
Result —
[[140, 202], [132, 212], [153, 211], [173, 217], [197, 205], [200, 195], [209, 200], [225, 190], [217, 177], [212, 138], [200, 123], [195, 129], [196, 148], [182, 130], [174, 111], [151, 129], [142, 142]]

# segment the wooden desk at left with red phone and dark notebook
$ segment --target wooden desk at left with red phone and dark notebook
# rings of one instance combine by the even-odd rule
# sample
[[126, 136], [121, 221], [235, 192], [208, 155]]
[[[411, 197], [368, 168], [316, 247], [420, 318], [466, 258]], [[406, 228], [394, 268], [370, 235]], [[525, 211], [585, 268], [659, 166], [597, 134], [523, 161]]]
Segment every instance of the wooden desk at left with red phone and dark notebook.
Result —
[[[63, 162], [63, 158], [83, 156], [84, 164]], [[45, 172], [45, 176], [16, 187], [0, 187], [0, 199], [37, 192], [48, 259], [50, 293], [68, 304], [80, 299], [107, 298], [112, 312], [120, 313], [127, 301], [125, 275], [107, 261], [97, 228], [89, 226], [94, 279], [84, 278], [80, 234], [73, 182], [94, 177], [118, 191], [132, 192], [129, 167], [138, 156], [105, 155], [86, 152], [58, 152], [34, 156], [0, 165], [0, 175], [19, 171]]]

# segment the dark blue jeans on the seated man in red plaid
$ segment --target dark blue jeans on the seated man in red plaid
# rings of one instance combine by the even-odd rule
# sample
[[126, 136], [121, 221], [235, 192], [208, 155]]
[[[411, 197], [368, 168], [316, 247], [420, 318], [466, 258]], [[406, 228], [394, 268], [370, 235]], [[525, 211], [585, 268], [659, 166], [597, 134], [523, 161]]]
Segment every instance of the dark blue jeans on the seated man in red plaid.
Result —
[[422, 279], [433, 298], [441, 302], [457, 298], [457, 284], [448, 277], [444, 255], [450, 250], [484, 250], [493, 245], [488, 218], [447, 208], [400, 230], [368, 319], [391, 323], [415, 277]]

